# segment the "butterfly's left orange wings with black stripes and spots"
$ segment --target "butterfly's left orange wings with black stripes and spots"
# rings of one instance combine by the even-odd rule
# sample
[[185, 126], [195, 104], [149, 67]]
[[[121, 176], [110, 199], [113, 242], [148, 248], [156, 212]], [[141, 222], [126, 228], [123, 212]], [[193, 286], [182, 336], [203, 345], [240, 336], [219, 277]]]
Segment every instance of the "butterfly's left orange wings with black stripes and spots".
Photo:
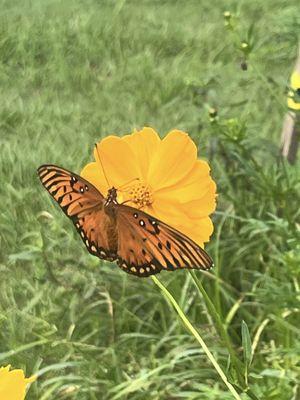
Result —
[[103, 210], [102, 194], [81, 176], [55, 165], [42, 165], [38, 175], [49, 194], [73, 221], [88, 251], [113, 261], [117, 240], [111, 220]]

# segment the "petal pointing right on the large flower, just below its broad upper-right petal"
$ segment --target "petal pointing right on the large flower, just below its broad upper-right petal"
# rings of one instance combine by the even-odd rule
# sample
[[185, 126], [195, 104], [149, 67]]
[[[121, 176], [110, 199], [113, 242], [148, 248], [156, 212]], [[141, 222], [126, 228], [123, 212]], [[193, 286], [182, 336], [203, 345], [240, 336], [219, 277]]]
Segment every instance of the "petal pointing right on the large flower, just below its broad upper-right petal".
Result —
[[208, 190], [216, 191], [216, 186], [209, 175], [207, 162], [197, 160], [190, 171], [180, 182], [156, 191], [157, 199], [173, 199], [180, 203], [197, 200], [205, 196]]

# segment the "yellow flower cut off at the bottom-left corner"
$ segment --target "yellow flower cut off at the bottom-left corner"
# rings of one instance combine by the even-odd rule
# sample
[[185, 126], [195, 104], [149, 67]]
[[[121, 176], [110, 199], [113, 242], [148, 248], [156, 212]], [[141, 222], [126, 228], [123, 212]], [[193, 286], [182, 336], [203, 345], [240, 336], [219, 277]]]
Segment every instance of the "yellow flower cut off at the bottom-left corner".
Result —
[[23, 400], [26, 387], [36, 380], [36, 376], [25, 378], [21, 369], [10, 371], [10, 365], [0, 367], [0, 400]]

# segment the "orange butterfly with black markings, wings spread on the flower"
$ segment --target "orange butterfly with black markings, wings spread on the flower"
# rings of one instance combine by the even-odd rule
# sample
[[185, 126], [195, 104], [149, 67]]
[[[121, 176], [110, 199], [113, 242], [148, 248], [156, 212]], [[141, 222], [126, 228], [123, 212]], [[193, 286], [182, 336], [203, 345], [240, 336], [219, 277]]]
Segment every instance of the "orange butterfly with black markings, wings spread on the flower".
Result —
[[118, 203], [116, 188], [104, 197], [81, 176], [55, 165], [40, 166], [38, 175], [92, 255], [116, 261], [123, 271], [139, 277], [213, 266], [209, 255], [178, 230]]

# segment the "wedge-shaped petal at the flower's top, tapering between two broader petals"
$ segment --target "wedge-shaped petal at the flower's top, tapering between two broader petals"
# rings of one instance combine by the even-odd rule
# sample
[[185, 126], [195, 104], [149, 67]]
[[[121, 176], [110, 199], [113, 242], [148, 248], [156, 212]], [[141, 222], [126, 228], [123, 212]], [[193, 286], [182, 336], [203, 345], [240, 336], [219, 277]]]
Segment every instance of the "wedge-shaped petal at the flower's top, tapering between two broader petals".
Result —
[[154, 129], [144, 127], [122, 139], [130, 145], [135, 154], [141, 177], [147, 182], [149, 165], [161, 142], [160, 137]]

